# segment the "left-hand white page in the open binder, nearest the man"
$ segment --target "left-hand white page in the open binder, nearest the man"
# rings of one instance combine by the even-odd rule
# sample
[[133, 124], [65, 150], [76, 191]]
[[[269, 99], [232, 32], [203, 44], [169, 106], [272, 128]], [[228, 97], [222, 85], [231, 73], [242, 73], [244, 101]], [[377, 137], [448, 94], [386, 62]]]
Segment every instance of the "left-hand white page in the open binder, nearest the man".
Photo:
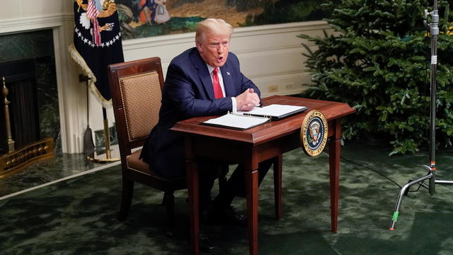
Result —
[[256, 127], [257, 125], [267, 123], [268, 121], [269, 121], [268, 118], [256, 118], [253, 116], [236, 115], [228, 113], [223, 116], [220, 116], [219, 118], [206, 120], [204, 124], [246, 130], [248, 128]]

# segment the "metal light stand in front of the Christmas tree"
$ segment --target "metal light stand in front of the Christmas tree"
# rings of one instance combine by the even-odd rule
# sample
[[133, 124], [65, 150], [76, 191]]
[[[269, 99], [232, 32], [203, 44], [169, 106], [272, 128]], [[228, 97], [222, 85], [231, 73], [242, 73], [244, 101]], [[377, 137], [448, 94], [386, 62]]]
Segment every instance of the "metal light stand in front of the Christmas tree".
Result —
[[[440, 181], [436, 180], [436, 162], [435, 162], [435, 144], [436, 144], [436, 79], [437, 79], [437, 35], [439, 35], [439, 11], [437, 10], [437, 0], [434, 0], [432, 12], [429, 13], [431, 16], [430, 22], [430, 34], [431, 34], [431, 97], [430, 97], [430, 164], [425, 166], [428, 169], [426, 176], [420, 177], [413, 181], [409, 181], [403, 186], [398, 194], [398, 200], [396, 200], [396, 208], [394, 215], [391, 217], [390, 230], [394, 230], [396, 220], [398, 220], [399, 207], [401, 206], [401, 200], [403, 196], [407, 194], [408, 188], [414, 184], [419, 184], [430, 191], [430, 196], [435, 194], [435, 184], [453, 184], [453, 181]], [[429, 180], [428, 186], [423, 181]]]

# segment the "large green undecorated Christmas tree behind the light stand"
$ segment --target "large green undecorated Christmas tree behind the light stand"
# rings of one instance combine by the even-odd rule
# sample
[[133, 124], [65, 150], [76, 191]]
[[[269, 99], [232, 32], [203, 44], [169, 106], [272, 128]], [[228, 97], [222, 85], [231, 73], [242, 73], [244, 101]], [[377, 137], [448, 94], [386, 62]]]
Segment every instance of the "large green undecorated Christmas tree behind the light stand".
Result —
[[[424, 6], [425, 5], [425, 6]], [[453, 35], [449, 1], [438, 1], [437, 146], [453, 134]], [[304, 97], [348, 103], [357, 110], [343, 120], [343, 138], [378, 135], [390, 154], [427, 145], [430, 121], [430, 34], [426, 3], [418, 0], [348, 0], [325, 4], [333, 28], [323, 38], [299, 35], [317, 46], [307, 53], [311, 72]], [[428, 8], [428, 12], [430, 12]], [[430, 18], [428, 18], [428, 23]]]

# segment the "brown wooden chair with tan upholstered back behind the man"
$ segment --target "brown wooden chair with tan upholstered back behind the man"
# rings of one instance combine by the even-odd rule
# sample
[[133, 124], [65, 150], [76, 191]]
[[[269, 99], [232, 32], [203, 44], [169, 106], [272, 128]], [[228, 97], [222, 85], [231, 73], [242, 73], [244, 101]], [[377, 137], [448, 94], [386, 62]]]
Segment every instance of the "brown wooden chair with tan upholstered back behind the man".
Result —
[[164, 191], [166, 234], [173, 236], [174, 191], [187, 187], [185, 178], [164, 179], [139, 159], [144, 141], [159, 120], [164, 86], [161, 60], [151, 57], [108, 66], [122, 166], [122, 200], [118, 220], [125, 220], [132, 203], [134, 182]]

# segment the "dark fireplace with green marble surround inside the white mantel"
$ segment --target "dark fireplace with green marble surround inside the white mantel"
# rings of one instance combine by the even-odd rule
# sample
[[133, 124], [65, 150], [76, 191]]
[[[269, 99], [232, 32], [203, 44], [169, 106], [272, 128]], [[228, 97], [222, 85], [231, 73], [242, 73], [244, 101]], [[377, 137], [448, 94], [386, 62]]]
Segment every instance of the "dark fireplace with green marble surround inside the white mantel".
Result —
[[[59, 104], [52, 30], [0, 36], [0, 81], [4, 77], [15, 149], [46, 137], [61, 152]], [[3, 84], [1, 84], [3, 86]], [[0, 106], [0, 154], [8, 152], [4, 97]]]

